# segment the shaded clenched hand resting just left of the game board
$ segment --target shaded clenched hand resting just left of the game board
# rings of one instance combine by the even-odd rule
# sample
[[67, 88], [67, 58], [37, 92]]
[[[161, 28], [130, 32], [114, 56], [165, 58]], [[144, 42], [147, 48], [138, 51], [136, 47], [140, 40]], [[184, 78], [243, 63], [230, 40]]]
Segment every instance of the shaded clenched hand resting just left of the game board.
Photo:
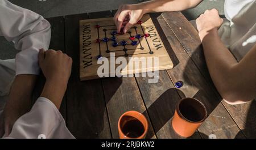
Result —
[[67, 83], [71, 75], [72, 58], [63, 54], [60, 50], [39, 51], [39, 66], [46, 80]]

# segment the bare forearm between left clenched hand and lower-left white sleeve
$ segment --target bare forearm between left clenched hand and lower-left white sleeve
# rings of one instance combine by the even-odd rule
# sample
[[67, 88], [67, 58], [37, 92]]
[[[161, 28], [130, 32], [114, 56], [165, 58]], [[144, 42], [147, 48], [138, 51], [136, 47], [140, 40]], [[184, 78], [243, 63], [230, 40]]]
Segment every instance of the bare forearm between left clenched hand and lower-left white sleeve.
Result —
[[41, 97], [46, 97], [48, 100], [52, 101], [53, 104], [60, 109], [61, 101], [64, 97], [65, 91], [67, 89], [67, 82], [61, 79], [47, 80], [44, 84], [44, 88]]

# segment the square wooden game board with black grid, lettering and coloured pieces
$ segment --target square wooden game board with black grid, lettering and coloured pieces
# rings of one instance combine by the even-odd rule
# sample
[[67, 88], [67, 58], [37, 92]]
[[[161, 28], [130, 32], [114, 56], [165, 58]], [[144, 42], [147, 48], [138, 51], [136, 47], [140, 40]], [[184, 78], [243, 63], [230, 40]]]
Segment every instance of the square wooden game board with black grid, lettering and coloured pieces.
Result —
[[[141, 21], [142, 24], [134, 25], [127, 33], [114, 35], [118, 43], [123, 40], [127, 41], [127, 45], [125, 46], [119, 44], [114, 47], [112, 46], [113, 41], [111, 40], [111, 33], [116, 30], [113, 18], [80, 20], [80, 79], [90, 80], [100, 78], [97, 74], [98, 67], [101, 66], [101, 64], [97, 64], [98, 57], [102, 56], [103, 58], [108, 58], [109, 62], [113, 65], [114, 62], [110, 61], [110, 53], [115, 53], [115, 58], [124, 57], [127, 59], [127, 62], [129, 57], [144, 57], [146, 59], [159, 58], [159, 67], [147, 67], [146, 65], [145, 68], [139, 64], [139, 69], [135, 69], [134, 67], [132, 70], [129, 70], [128, 62], [127, 66], [121, 71], [122, 75], [145, 72], [146, 69], [155, 71], [172, 68], [173, 63], [156, 31], [150, 15], [144, 15]], [[100, 27], [97, 28], [96, 25], [100, 25]], [[138, 45], [131, 45], [133, 40], [129, 39], [130, 36], [143, 36], [146, 33], [150, 34], [150, 36], [135, 38], [135, 40], [138, 41]], [[108, 37], [109, 41], [97, 42], [97, 39], [102, 40], [104, 37]], [[100, 59], [102, 59], [102, 57]], [[109, 66], [111, 66], [111, 64]], [[117, 67], [119, 65], [114, 66]], [[113, 71], [109, 71], [107, 74], [111, 75], [114, 73]]]

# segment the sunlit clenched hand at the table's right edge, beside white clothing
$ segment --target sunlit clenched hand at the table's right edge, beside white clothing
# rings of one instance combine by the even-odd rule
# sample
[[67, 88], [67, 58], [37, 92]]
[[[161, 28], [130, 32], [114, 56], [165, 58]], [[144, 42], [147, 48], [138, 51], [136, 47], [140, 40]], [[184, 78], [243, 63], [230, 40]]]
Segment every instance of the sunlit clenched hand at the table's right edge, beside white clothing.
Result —
[[223, 19], [220, 18], [216, 9], [206, 10], [204, 14], [201, 14], [196, 19], [196, 27], [201, 41], [212, 29], [218, 29], [222, 23]]

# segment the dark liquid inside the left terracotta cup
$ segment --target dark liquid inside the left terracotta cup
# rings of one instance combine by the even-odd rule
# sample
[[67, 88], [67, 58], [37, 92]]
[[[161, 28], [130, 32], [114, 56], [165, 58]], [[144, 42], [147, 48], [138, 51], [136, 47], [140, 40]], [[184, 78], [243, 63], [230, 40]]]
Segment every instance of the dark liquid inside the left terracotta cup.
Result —
[[123, 134], [129, 138], [138, 138], [145, 131], [141, 121], [131, 116], [124, 116], [122, 118], [121, 127]]

